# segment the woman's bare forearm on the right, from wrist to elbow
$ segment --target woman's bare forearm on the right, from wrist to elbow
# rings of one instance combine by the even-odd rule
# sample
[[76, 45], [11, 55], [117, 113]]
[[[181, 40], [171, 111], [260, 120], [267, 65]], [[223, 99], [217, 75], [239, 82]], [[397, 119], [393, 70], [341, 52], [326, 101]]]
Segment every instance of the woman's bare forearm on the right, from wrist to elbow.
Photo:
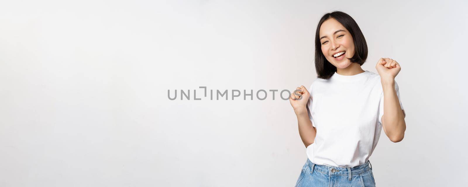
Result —
[[395, 80], [383, 82], [384, 115], [382, 122], [388, 138], [394, 142], [401, 141], [406, 130], [406, 123], [398, 96], [395, 90]]

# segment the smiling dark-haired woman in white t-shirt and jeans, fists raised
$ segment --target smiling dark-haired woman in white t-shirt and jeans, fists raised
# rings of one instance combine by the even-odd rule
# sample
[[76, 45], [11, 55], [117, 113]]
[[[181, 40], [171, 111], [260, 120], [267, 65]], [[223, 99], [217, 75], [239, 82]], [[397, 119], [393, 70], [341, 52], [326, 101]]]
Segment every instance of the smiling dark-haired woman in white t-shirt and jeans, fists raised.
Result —
[[369, 157], [382, 127], [392, 142], [403, 139], [400, 64], [380, 58], [375, 74], [361, 68], [366, 58], [356, 21], [339, 11], [324, 14], [315, 32], [317, 79], [289, 98], [307, 152], [296, 187], [374, 187]]

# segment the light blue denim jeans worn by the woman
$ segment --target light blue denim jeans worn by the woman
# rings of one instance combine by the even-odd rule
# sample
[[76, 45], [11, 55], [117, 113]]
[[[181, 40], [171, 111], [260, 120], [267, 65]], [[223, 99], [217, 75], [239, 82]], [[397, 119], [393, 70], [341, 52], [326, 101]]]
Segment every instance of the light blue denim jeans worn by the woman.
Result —
[[375, 187], [375, 180], [370, 161], [355, 167], [334, 167], [307, 159], [295, 187]]

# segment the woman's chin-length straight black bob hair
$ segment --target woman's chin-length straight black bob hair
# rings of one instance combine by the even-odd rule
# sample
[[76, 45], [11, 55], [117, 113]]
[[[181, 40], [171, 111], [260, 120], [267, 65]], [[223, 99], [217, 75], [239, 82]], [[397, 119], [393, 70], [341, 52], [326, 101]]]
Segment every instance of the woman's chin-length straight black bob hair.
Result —
[[344, 12], [334, 11], [326, 13], [320, 19], [319, 24], [317, 25], [317, 30], [315, 31], [315, 70], [317, 71], [317, 78], [322, 79], [329, 79], [336, 72], [336, 67], [323, 55], [322, 43], [320, 43], [319, 38], [322, 23], [330, 18], [334, 18], [336, 21], [340, 22], [351, 34], [354, 42], [354, 56], [348, 59], [361, 66], [367, 59], [367, 43], [358, 23], [356, 23], [350, 15]]

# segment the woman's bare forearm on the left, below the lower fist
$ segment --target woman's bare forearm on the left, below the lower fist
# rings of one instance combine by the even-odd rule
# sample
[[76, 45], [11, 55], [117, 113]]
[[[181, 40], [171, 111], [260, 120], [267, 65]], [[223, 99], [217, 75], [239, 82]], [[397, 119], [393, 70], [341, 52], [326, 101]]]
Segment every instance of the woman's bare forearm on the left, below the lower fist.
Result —
[[310, 122], [309, 116], [306, 111], [307, 110], [302, 112], [296, 112], [296, 116], [299, 126], [300, 139], [302, 139], [302, 142], [307, 147], [314, 143], [315, 134], [317, 133], [317, 130], [314, 126], [312, 126], [312, 122]]

